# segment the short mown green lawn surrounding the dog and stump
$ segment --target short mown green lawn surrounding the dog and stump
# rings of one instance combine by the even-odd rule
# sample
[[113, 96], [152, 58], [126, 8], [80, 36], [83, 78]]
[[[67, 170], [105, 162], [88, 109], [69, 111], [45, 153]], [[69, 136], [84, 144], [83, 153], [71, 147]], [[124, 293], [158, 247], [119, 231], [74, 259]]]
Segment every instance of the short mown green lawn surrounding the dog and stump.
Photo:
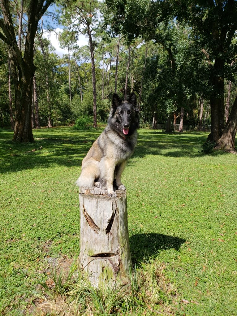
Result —
[[[21, 293], [47, 276], [50, 260], [77, 257], [74, 182], [100, 132], [40, 129], [35, 143], [20, 144], [0, 130], [0, 313], [21, 315], [29, 305]], [[144, 284], [149, 268], [162, 266], [175, 295], [164, 290], [155, 302], [140, 283], [136, 315], [237, 315], [237, 161], [222, 151], [201, 155], [207, 135], [139, 130], [122, 175], [132, 262]], [[129, 315], [125, 305], [107, 313]]]

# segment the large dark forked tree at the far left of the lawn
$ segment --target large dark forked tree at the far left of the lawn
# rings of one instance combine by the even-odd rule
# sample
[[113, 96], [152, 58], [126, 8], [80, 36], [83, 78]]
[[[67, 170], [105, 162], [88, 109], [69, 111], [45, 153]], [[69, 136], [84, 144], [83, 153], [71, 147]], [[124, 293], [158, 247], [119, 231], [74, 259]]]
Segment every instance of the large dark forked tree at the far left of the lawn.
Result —
[[[9, 45], [12, 79], [15, 85], [15, 141], [33, 142], [31, 125], [32, 84], [35, 66], [33, 64], [34, 38], [38, 22], [54, 0], [30, 0], [25, 6], [27, 25], [24, 52], [17, 45], [14, 25], [17, 2], [0, 2], [0, 39]], [[11, 4], [11, 5], [9, 5]], [[22, 58], [23, 56], [23, 58]]]

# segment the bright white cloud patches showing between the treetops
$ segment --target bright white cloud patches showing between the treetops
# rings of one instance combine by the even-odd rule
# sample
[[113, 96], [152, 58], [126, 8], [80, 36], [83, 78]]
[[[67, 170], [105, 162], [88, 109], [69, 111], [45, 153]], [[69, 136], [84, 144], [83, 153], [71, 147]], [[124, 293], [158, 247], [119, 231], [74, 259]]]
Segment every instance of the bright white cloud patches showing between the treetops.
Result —
[[[60, 57], [63, 57], [63, 54], [68, 54], [67, 49], [59, 47], [58, 34], [62, 31], [62, 28], [57, 27], [56, 29], [54, 29], [54, 31], [45, 33], [45, 37], [50, 40], [52, 46], [55, 48], [55, 53], [58, 54], [58, 56]], [[77, 45], [80, 47], [88, 45], [88, 38], [84, 34], [79, 34], [79, 40], [77, 41]]]

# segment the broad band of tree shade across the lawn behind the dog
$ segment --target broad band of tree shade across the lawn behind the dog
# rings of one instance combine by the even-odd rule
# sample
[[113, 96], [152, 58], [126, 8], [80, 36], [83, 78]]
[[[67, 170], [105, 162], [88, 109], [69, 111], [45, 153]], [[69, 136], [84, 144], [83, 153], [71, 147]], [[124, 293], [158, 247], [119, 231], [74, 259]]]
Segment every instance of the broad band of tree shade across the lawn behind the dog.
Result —
[[[7, 135], [2, 134], [0, 140], [0, 173], [54, 166], [80, 168], [82, 159], [101, 131], [73, 131], [60, 128], [39, 130], [35, 131], [34, 143], [15, 143], [8, 138], [9, 131], [7, 131]], [[140, 130], [133, 157], [163, 155], [193, 158], [201, 156], [197, 151], [197, 146], [200, 141], [204, 143], [206, 137], [207, 133], [203, 132], [164, 134], [158, 131]], [[32, 151], [41, 146], [42, 150]], [[213, 155], [220, 154], [226, 153], [218, 151]]]

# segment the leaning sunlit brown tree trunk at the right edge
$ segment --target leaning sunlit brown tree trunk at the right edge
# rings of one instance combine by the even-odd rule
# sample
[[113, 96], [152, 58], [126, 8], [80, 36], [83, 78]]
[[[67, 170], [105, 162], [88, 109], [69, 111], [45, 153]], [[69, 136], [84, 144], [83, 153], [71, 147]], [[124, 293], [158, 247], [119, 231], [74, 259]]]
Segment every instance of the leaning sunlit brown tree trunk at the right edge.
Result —
[[234, 100], [234, 104], [228, 121], [225, 125], [222, 136], [220, 137], [215, 149], [225, 149], [231, 152], [235, 151], [235, 135], [237, 131], [237, 95]]

